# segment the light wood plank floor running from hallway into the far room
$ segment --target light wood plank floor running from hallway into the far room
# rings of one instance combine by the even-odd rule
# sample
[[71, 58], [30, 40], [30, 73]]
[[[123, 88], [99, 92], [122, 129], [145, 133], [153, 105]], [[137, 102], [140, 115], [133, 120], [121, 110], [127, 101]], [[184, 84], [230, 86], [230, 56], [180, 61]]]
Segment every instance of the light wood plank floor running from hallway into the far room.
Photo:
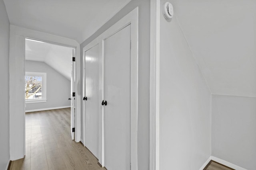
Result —
[[71, 140], [70, 108], [26, 113], [26, 156], [10, 170], [106, 170], [82, 144]]

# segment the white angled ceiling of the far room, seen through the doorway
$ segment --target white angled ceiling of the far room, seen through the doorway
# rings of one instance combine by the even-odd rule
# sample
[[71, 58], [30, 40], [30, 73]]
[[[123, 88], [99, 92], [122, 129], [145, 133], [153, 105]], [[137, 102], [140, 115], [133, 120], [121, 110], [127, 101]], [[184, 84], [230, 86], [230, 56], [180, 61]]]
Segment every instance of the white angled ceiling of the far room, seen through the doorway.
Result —
[[71, 79], [72, 48], [26, 39], [26, 60], [41, 61]]

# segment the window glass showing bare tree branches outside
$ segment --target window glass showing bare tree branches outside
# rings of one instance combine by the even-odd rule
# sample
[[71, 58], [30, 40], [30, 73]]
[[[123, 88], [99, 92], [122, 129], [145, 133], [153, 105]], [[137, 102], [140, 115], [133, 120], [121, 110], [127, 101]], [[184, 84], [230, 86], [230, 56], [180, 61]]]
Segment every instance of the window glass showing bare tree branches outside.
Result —
[[42, 98], [42, 76], [25, 76], [25, 99]]

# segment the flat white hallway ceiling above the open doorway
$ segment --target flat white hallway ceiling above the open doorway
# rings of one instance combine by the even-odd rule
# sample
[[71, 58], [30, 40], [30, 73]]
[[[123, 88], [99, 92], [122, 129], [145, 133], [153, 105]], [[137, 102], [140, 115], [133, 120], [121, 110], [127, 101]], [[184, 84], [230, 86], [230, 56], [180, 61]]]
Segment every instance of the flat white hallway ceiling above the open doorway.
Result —
[[82, 43], [130, 0], [4, 0], [10, 24]]

